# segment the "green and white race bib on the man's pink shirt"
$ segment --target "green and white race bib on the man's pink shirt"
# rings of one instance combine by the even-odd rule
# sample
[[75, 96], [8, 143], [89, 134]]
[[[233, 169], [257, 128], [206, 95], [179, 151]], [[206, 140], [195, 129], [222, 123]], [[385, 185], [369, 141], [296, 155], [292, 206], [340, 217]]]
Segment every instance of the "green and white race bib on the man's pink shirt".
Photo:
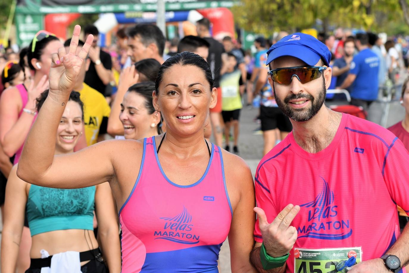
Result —
[[337, 273], [335, 266], [341, 260], [355, 257], [362, 260], [361, 247], [305, 249], [294, 248], [294, 273]]

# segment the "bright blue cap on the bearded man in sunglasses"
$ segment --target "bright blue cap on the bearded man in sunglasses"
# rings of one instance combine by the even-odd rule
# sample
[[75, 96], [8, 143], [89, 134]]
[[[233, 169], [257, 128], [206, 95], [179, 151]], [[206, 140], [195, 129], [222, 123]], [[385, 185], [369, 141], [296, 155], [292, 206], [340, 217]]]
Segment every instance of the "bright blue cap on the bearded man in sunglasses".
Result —
[[316, 65], [319, 59], [329, 66], [331, 52], [317, 38], [305, 33], [293, 33], [285, 36], [267, 51], [266, 65], [281, 56], [293, 56], [308, 65]]

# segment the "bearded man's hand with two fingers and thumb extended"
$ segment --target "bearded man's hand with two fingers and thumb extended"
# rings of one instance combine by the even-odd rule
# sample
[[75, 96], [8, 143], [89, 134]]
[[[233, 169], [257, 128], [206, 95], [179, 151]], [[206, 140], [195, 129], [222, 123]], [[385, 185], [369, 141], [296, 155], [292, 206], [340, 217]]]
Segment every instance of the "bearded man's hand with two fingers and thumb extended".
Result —
[[276, 258], [290, 252], [298, 235], [297, 229], [290, 226], [290, 223], [300, 211], [300, 206], [287, 205], [272, 223], [267, 222], [264, 210], [256, 207], [254, 211], [257, 213], [258, 226], [260, 227], [267, 254]]

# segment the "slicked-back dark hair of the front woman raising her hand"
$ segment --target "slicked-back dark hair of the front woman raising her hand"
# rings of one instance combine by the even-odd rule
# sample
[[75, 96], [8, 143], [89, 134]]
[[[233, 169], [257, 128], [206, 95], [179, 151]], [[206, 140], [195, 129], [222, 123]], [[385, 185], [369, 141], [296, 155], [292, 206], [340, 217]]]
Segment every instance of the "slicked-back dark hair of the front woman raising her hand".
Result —
[[203, 71], [203, 73], [205, 74], [207, 82], [210, 85], [210, 91], [213, 89], [214, 81], [213, 81], [213, 78], [211, 76], [211, 70], [210, 70], [209, 63], [207, 63], [207, 61], [205, 61], [205, 59], [200, 57], [198, 54], [194, 54], [192, 52], [184, 51], [182, 53], [178, 53], [178, 54], [175, 54], [175, 55], [171, 56], [159, 68], [159, 71], [157, 72], [156, 81], [155, 81], [155, 93], [156, 93], [156, 95], [159, 94], [159, 85], [162, 82], [162, 77], [163, 77], [164, 73], [166, 71], [168, 71], [175, 64], [194, 65], [197, 68], [200, 68]]

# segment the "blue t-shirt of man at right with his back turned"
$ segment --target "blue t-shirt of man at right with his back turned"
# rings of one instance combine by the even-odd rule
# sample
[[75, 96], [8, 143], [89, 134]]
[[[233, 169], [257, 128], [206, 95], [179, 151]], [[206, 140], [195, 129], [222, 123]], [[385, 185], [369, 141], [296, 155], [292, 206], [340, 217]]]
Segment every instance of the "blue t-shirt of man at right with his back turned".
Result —
[[350, 74], [356, 79], [351, 88], [351, 97], [373, 101], [378, 97], [379, 57], [372, 50], [366, 48], [354, 56], [351, 62]]

